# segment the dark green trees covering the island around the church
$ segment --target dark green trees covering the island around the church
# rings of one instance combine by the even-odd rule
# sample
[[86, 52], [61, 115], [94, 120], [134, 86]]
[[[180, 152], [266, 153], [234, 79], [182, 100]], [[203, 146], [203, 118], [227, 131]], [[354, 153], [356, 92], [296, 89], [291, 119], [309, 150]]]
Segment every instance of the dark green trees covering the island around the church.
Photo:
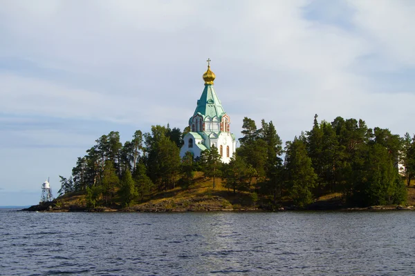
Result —
[[[212, 177], [213, 188], [216, 177], [222, 176], [229, 191], [255, 190], [258, 198], [273, 200], [274, 206], [283, 199], [306, 206], [314, 197], [334, 192], [343, 193], [353, 206], [369, 206], [405, 201], [398, 162], [404, 166], [401, 173], [407, 185], [415, 177], [415, 136], [400, 138], [388, 129], [371, 129], [361, 119], [337, 117], [329, 123], [317, 121], [315, 115], [311, 130], [287, 142], [284, 164], [282, 141], [273, 121], [263, 119], [257, 129], [254, 120], [243, 118], [241, 145], [229, 164], [221, 164], [214, 146], [195, 159], [187, 152], [181, 160], [179, 148], [189, 131], [189, 127], [181, 133], [178, 128], [152, 126], [144, 135], [134, 132], [124, 145], [118, 132], [102, 135], [77, 159], [73, 178], [61, 177], [59, 195], [84, 191], [93, 208], [101, 196], [101, 203], [111, 204], [119, 188], [118, 195], [127, 206], [133, 199], [150, 198], [156, 189], [174, 188], [179, 177], [187, 188], [194, 170], [201, 170], [205, 177]], [[132, 182], [124, 179], [129, 171]]]

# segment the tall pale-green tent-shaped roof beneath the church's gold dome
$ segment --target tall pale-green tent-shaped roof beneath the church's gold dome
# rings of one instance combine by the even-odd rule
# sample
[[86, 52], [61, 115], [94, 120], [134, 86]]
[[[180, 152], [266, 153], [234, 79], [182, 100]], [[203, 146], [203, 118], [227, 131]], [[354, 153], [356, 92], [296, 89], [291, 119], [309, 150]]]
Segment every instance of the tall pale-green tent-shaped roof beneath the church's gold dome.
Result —
[[194, 115], [197, 115], [198, 113], [203, 115], [203, 118], [208, 116], [211, 118], [219, 118], [225, 114], [225, 110], [222, 108], [222, 103], [219, 101], [212, 84], [205, 84], [205, 89], [203, 89], [201, 99], [197, 101], [197, 107], [196, 110], [194, 110]]

